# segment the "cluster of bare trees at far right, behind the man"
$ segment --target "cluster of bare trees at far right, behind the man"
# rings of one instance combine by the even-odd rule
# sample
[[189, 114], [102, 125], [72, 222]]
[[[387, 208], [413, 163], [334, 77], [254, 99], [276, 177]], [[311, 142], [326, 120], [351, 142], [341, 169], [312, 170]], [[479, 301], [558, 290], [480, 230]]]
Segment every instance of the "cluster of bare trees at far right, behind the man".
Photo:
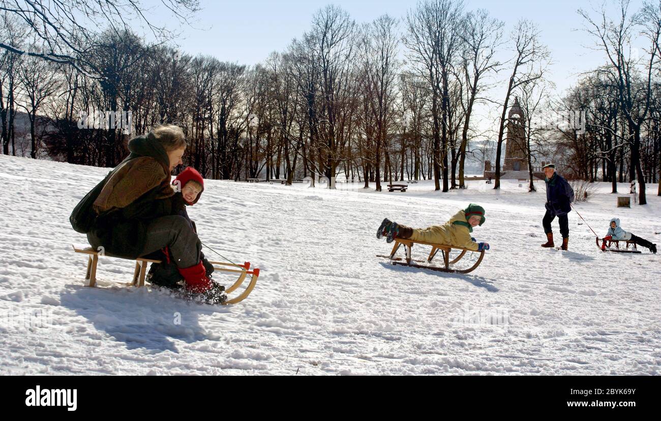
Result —
[[661, 195], [661, 2], [646, 1], [635, 11], [621, 0], [618, 12], [579, 11], [606, 60], [560, 101], [586, 117], [582, 133], [559, 132], [559, 147], [568, 151], [566, 165], [576, 176], [610, 181], [613, 192], [617, 182], [637, 180], [640, 204], [646, 204], [646, 182], [659, 181]]

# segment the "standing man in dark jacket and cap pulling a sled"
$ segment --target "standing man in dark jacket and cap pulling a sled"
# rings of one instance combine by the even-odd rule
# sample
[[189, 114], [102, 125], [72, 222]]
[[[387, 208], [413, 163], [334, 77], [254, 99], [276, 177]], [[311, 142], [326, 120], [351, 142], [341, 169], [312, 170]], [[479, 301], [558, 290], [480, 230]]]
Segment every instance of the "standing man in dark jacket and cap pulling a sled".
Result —
[[569, 243], [569, 221], [567, 219], [567, 213], [572, 210], [570, 204], [574, 202], [574, 190], [567, 180], [555, 171], [555, 165], [547, 164], [543, 169], [546, 175], [546, 214], [544, 215], [542, 225], [547, 236], [547, 242], [541, 245], [541, 247], [555, 247], [551, 222], [557, 216], [560, 223], [560, 233], [563, 236], [562, 249], [567, 250]]

